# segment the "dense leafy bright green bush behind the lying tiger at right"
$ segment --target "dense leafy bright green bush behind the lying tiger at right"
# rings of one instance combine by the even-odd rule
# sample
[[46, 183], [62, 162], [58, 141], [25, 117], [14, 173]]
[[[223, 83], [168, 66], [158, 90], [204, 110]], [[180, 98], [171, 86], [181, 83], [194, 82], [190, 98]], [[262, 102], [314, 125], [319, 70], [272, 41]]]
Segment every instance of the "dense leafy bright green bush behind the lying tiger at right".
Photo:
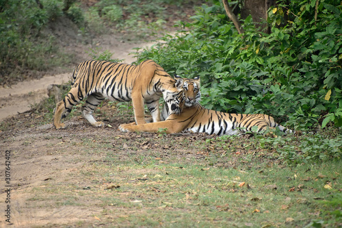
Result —
[[316, 1], [278, 1], [268, 12], [271, 34], [259, 31], [250, 16], [238, 34], [220, 2], [202, 5], [185, 25], [189, 32], [137, 49], [138, 62], [149, 58], [170, 74], [199, 75], [202, 104], [211, 109], [267, 113], [296, 129], [321, 121], [340, 127], [341, 5], [319, 1], [315, 20]]

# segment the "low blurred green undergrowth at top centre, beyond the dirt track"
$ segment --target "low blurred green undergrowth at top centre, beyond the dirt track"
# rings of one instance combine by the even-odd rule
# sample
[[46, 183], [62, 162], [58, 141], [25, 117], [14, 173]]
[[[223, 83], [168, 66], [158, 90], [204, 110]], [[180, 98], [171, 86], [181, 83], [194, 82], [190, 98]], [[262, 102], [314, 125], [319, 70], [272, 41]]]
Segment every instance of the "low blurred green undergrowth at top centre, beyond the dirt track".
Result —
[[181, 6], [185, 3], [194, 3], [194, 1], [157, 0], [151, 3], [150, 1], [101, 0], [89, 8], [86, 14], [90, 25], [97, 21], [105, 22], [123, 34], [135, 33], [137, 38], [160, 33], [173, 16], [165, 13], [165, 5]]

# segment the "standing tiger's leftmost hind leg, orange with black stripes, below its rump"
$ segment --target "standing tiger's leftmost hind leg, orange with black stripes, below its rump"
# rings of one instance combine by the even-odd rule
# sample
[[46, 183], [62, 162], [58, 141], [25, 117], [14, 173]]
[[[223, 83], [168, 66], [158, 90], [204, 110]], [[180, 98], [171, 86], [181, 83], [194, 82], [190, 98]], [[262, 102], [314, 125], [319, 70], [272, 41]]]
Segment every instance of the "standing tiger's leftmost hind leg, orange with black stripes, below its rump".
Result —
[[57, 103], [55, 107], [55, 116], [53, 120], [53, 125], [56, 129], [65, 128], [64, 123], [61, 123], [61, 119], [68, 116], [74, 105], [79, 103], [83, 97], [77, 96], [78, 88], [71, 88], [71, 90], [66, 94], [66, 97]]

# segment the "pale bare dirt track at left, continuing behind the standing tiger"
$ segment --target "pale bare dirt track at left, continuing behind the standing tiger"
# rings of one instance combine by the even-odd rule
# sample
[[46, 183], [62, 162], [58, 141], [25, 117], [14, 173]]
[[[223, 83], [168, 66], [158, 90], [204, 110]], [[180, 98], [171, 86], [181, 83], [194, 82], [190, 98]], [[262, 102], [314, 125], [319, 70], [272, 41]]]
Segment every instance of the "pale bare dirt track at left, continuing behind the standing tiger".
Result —
[[[56, 33], [58, 31], [60, 29], [57, 27]], [[77, 34], [68, 34], [68, 36], [77, 36]], [[85, 50], [98, 47], [103, 51], [109, 50], [114, 53], [112, 58], [131, 63], [135, 60], [129, 55], [133, 48], [152, 45], [151, 42], [125, 41], [109, 34], [92, 40], [92, 44], [75, 42], [68, 45], [66, 49], [75, 52], [79, 62], [89, 59]], [[1, 182], [5, 183], [1, 185], [5, 187], [2, 187], [0, 192], [2, 212], [0, 227], [9, 227], [8, 225], [10, 227], [73, 227], [77, 221], [92, 227], [93, 223], [99, 222], [94, 214], [104, 210], [98, 205], [100, 202], [96, 197], [82, 199], [81, 206], [55, 206], [55, 200], [49, 199], [49, 193], [42, 193], [41, 190], [51, 185], [68, 186], [70, 183], [75, 183], [75, 179], [80, 188], [92, 186], [92, 179], [85, 179], [82, 172], [94, 162], [105, 160], [108, 151], [122, 155], [120, 159], [124, 160], [132, 154], [137, 155], [137, 152], [151, 153], [148, 152], [151, 148], [153, 153], [160, 153], [158, 156], [170, 157], [174, 149], [169, 144], [154, 142], [156, 135], [146, 140], [151, 135], [122, 134], [118, 131], [118, 125], [133, 121], [133, 116], [127, 118], [129, 116], [127, 114], [123, 118], [114, 115], [110, 120], [102, 119], [111, 127], [96, 129], [86, 123], [81, 116], [66, 121], [67, 128], [60, 131], [57, 131], [52, 123], [42, 125], [44, 114], [32, 111], [31, 105], [47, 97], [49, 84], [62, 84], [68, 81], [72, 71], [73, 68], [70, 68], [68, 73], [51, 73], [40, 79], [21, 81], [13, 86], [0, 88], [0, 122], [3, 121], [3, 130], [0, 131], [1, 164], [3, 164], [0, 175]], [[115, 109], [108, 112], [115, 112]], [[190, 141], [196, 140], [196, 137], [198, 136], [187, 135]], [[205, 140], [208, 136], [201, 137]], [[89, 151], [88, 147], [84, 146], [85, 140], [96, 143], [96, 147], [102, 147], [99, 146], [101, 144], [108, 147]], [[181, 140], [181, 138], [174, 138], [174, 140]], [[137, 151], [136, 147], [139, 148]], [[183, 159], [187, 155], [203, 157], [202, 154], [197, 153], [198, 151], [189, 152], [183, 149], [177, 152], [178, 159]], [[6, 166], [4, 166], [5, 161], [8, 161]], [[5, 169], [6, 167], [8, 170]], [[6, 181], [5, 177], [8, 178]], [[10, 194], [5, 192], [8, 189]], [[10, 223], [5, 221], [8, 217], [5, 216], [4, 209], [8, 208], [8, 205], [10, 205]], [[122, 212], [118, 211], [118, 216], [120, 214], [122, 215]]]

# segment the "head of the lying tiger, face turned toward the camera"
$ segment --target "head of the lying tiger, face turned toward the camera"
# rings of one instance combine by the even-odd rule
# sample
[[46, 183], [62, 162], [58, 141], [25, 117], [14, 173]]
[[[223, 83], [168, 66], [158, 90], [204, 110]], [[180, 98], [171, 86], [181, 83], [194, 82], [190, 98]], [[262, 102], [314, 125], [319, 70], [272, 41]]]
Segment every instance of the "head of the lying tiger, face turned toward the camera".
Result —
[[[182, 78], [179, 75], [174, 75], [174, 79]], [[185, 107], [192, 107], [200, 101], [200, 77], [183, 78], [183, 99]]]

